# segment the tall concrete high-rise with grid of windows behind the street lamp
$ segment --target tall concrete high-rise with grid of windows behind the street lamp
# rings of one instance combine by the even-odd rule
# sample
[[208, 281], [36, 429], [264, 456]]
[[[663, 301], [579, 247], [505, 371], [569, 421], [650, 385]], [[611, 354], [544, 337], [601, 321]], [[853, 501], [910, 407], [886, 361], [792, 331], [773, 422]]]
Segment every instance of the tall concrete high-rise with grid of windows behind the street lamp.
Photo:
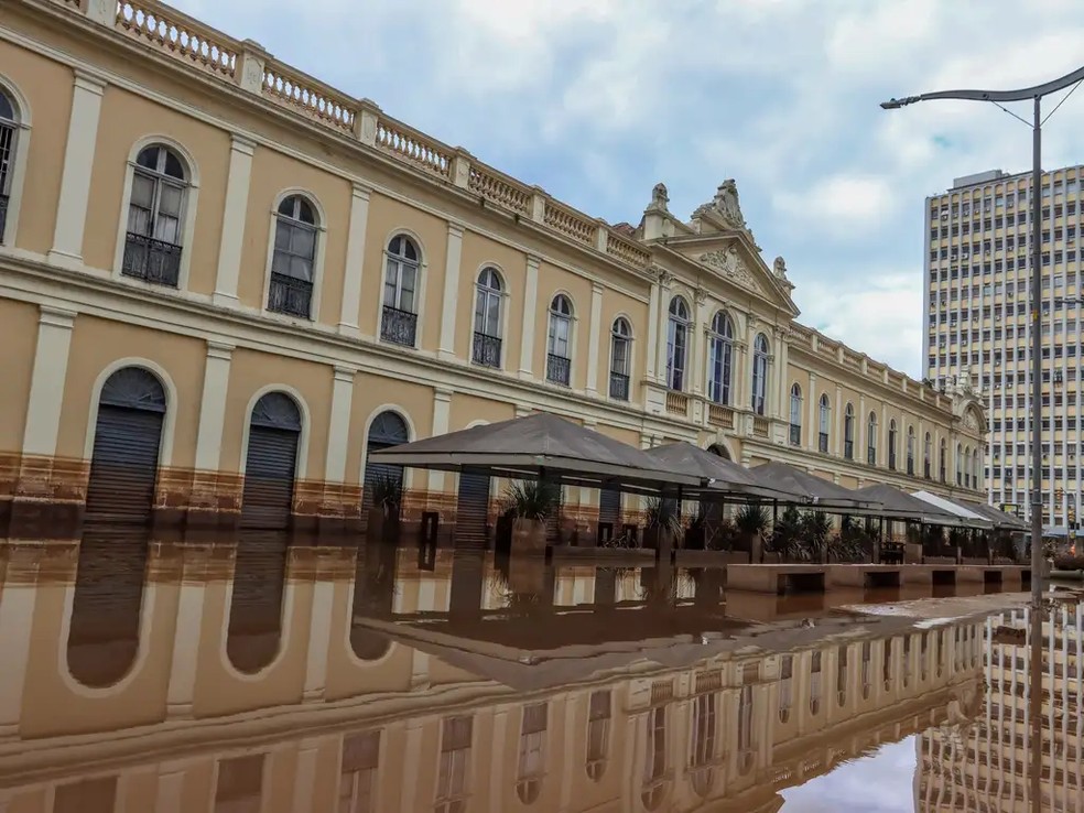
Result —
[[[1081, 172], [1047, 172], [1041, 188], [1043, 523], [1055, 534], [1077, 521], [1082, 486]], [[1031, 483], [1030, 185], [1030, 174], [1000, 170], [956, 178], [926, 198], [925, 252], [926, 375], [939, 388], [979, 393], [989, 416], [989, 500], [1025, 517]]]

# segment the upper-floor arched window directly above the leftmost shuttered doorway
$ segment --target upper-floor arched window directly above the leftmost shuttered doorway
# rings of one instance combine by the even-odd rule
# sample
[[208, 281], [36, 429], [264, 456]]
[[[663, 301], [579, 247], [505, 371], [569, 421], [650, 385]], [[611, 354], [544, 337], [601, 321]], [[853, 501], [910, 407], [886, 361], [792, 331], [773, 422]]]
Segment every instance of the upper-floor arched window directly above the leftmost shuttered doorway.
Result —
[[[0, 163], [2, 158], [0, 145]], [[128, 234], [120, 265], [122, 274], [176, 288], [181, 275], [181, 223], [187, 192], [188, 174], [173, 150], [161, 144], [140, 150], [132, 167]]]

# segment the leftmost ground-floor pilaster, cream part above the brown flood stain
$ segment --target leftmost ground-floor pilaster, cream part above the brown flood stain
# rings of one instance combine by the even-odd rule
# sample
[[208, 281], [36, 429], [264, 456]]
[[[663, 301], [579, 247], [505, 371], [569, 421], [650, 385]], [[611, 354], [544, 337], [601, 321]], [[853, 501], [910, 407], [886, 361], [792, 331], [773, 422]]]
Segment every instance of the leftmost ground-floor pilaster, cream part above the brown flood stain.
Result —
[[34, 372], [30, 381], [26, 426], [23, 430], [24, 455], [52, 457], [56, 454], [75, 316], [74, 311], [43, 305], [37, 317]]

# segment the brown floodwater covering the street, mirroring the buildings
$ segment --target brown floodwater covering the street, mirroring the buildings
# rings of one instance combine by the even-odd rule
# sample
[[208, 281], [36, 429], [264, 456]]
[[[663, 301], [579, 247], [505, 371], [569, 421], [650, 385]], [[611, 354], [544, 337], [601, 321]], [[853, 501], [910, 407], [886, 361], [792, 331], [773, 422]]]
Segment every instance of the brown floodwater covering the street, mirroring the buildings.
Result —
[[0, 811], [1084, 811], [1072, 590], [289, 542], [0, 546]]

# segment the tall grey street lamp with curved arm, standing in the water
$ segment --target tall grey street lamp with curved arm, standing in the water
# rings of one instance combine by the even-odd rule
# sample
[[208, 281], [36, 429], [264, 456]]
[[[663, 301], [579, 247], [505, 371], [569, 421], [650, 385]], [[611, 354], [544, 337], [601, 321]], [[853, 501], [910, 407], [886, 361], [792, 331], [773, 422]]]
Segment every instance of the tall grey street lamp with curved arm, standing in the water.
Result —
[[[1031, 601], [1036, 611], [1042, 603], [1042, 330], [1039, 329], [1040, 297], [1042, 296], [1042, 97], [1070, 85], [1084, 82], [1084, 67], [1044, 85], [1019, 90], [940, 90], [902, 99], [882, 101], [886, 110], [934, 99], [964, 99], [990, 101], [1001, 107], [1002, 101], [1034, 104], [1031, 124]], [[1076, 88], [1074, 87], [1073, 90]], [[1072, 90], [1070, 91], [1072, 93]], [[1067, 98], [1067, 96], [1066, 96]], [[1064, 101], [1064, 99], [1062, 99]], [[1061, 107], [1059, 102], [1058, 107]], [[1058, 110], [1055, 107], [1051, 116]], [[1001, 107], [1004, 110], [1005, 108]], [[1008, 111], [1007, 111], [1008, 112]], [[1016, 116], [1016, 113], [1011, 113]], [[1016, 116], [1016, 118], [1020, 118]], [[1047, 118], [1050, 118], [1049, 116]], [[1020, 119], [1023, 121], [1023, 119]], [[1027, 121], [1025, 121], [1027, 123]]]

